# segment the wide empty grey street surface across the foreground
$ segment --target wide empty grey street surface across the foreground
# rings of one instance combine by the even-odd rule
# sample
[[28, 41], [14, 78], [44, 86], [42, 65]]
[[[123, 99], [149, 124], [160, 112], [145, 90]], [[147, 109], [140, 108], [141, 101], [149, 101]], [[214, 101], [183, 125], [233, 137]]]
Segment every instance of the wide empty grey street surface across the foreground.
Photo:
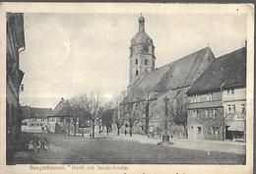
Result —
[[[96, 139], [56, 134], [34, 134], [46, 137], [50, 148], [38, 153], [20, 151], [21, 158], [39, 164], [243, 164], [244, 154], [186, 149], [165, 145], [141, 144], [114, 135]], [[26, 163], [26, 162], [25, 162]]]

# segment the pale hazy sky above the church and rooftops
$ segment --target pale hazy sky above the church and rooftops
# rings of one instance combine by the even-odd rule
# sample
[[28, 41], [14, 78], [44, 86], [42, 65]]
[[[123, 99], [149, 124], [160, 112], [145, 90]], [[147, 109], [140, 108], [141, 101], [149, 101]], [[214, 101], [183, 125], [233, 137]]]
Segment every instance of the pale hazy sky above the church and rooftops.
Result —
[[[22, 105], [54, 108], [61, 97], [100, 92], [111, 100], [129, 83], [130, 40], [140, 14], [26, 13]], [[244, 46], [246, 16], [143, 14], [156, 68], [210, 46], [218, 58]]]

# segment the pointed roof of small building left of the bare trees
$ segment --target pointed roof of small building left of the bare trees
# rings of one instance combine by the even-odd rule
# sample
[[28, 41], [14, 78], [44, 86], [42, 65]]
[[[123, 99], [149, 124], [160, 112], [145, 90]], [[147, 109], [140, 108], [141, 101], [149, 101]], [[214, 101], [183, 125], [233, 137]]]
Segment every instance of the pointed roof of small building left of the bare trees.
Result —
[[56, 105], [52, 114], [53, 117], [71, 117], [71, 105], [68, 100], [61, 98], [60, 102]]

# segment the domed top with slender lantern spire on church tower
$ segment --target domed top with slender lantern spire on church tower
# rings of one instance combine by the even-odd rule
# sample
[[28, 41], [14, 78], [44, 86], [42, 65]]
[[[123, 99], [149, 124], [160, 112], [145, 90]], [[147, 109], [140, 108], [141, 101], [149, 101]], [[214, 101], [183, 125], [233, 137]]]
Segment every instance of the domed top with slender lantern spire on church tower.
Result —
[[145, 19], [143, 16], [139, 17], [139, 31], [134, 35], [131, 40], [131, 46], [134, 45], [153, 45], [152, 38], [145, 32]]

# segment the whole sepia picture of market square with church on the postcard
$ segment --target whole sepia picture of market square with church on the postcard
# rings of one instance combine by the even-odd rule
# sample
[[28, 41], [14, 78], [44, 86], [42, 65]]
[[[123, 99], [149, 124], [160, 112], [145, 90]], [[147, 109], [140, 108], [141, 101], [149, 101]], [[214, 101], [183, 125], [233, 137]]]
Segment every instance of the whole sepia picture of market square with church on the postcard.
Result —
[[6, 11], [6, 165], [246, 166], [239, 10]]

